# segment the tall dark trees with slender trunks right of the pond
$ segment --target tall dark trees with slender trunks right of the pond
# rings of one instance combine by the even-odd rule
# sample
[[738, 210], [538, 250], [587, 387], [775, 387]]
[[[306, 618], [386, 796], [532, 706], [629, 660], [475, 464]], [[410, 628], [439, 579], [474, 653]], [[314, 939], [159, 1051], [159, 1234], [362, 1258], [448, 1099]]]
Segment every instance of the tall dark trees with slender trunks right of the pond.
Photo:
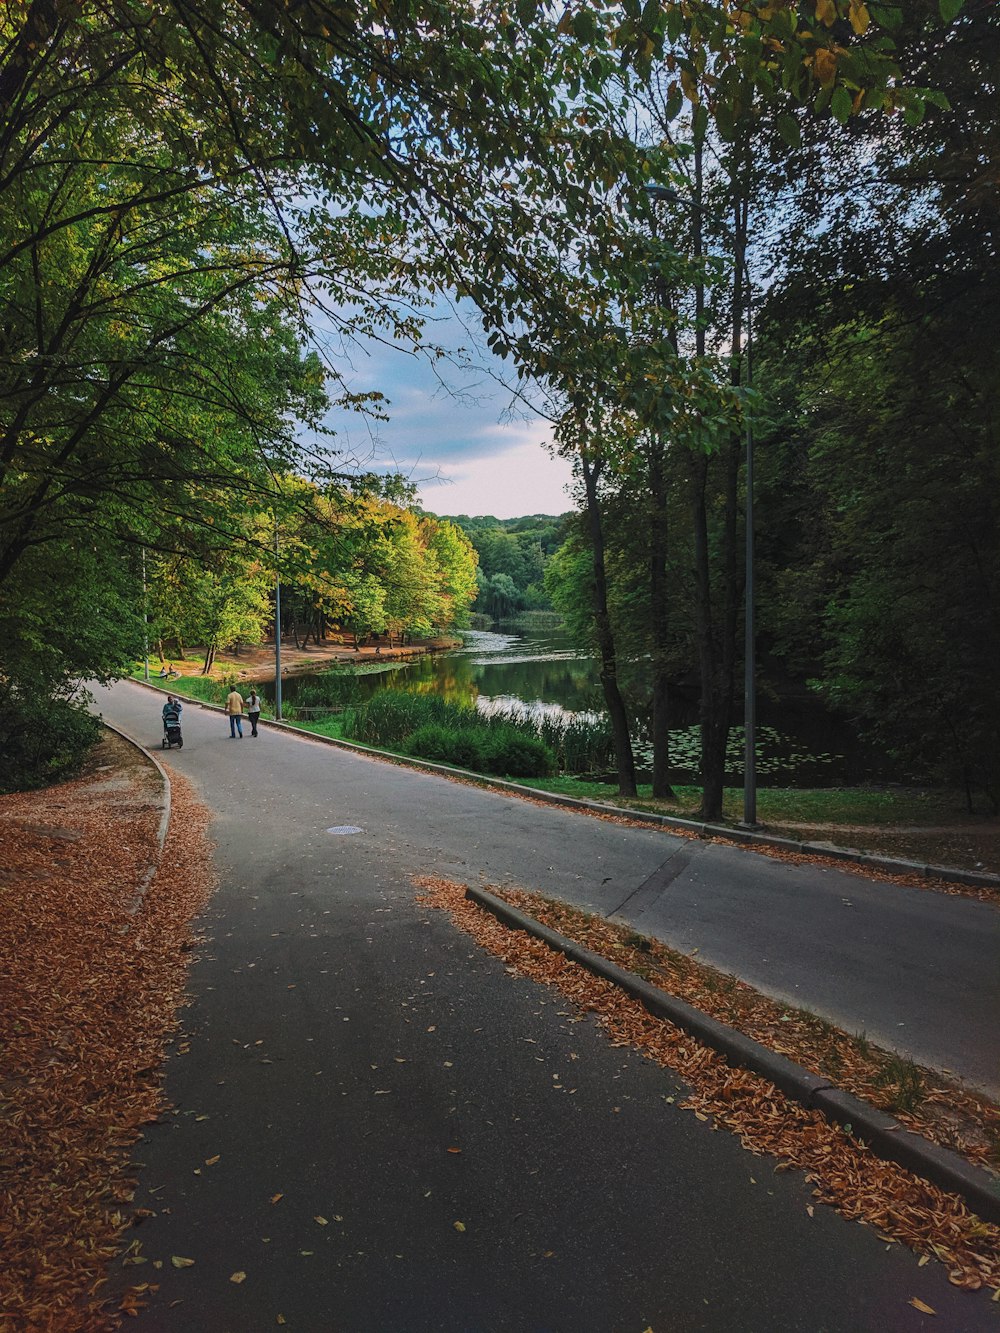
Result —
[[[741, 721], [748, 433], [757, 692], [821, 700], [901, 778], [964, 786], [969, 805], [985, 793], [993, 810], [1000, 797], [1000, 349], [984, 337], [1000, 295], [1000, 20], [967, 5], [947, 28], [915, 4], [893, 37], [907, 79], [941, 89], [925, 113], [748, 111], [723, 137], [653, 91], [651, 123], [684, 171], [651, 229], [723, 276], [649, 283], [672, 423], [651, 429], [639, 403], [564, 419], [583, 505], [549, 595], [620, 709], [623, 789], [633, 718], [655, 730], [667, 794], [672, 701], [700, 700], [705, 814]], [[715, 435], [691, 419], [712, 359], [743, 400]]]

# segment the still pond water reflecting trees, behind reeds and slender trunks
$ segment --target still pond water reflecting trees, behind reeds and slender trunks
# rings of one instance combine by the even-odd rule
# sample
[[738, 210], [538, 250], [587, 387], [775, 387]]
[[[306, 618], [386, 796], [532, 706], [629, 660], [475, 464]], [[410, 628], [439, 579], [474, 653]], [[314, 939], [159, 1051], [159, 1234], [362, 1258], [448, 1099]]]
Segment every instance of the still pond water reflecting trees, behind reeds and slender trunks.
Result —
[[[380, 689], [443, 694], [488, 712], [503, 708], [528, 714], [541, 712], [568, 717], [596, 716], [604, 702], [592, 659], [583, 656], [559, 629], [525, 632], [465, 631], [461, 648], [433, 653], [409, 663], [365, 666], [353, 677], [356, 697], [369, 698]], [[353, 676], [353, 672], [351, 673]], [[283, 697], [295, 702], [316, 674], [291, 676]], [[272, 697], [272, 686], [263, 689]], [[680, 701], [679, 701], [680, 702]], [[759, 698], [757, 770], [761, 785], [837, 785], [873, 776], [871, 756], [844, 721], [831, 717], [819, 704], [795, 705]], [[697, 780], [699, 738], [691, 702], [677, 717], [687, 724], [671, 732], [672, 778]], [[743, 780], [743, 730], [729, 737], [729, 780]], [[648, 753], [641, 733], [636, 736], [640, 777], [648, 777]]]

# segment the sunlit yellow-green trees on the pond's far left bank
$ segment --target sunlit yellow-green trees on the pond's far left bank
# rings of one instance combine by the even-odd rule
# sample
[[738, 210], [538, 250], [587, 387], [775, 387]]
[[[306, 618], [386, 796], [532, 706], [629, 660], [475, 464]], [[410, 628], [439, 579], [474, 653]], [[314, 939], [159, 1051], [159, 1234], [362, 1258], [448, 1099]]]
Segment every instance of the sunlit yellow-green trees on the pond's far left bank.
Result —
[[161, 655], [199, 645], [208, 673], [219, 651], [272, 636], [279, 579], [281, 633], [297, 645], [337, 632], [392, 647], [468, 623], [476, 553], [457, 527], [401, 503], [413, 497], [397, 477], [325, 491], [287, 477], [281, 492], [283, 513], [248, 516], [245, 543], [215, 560], [147, 561], [147, 635]]

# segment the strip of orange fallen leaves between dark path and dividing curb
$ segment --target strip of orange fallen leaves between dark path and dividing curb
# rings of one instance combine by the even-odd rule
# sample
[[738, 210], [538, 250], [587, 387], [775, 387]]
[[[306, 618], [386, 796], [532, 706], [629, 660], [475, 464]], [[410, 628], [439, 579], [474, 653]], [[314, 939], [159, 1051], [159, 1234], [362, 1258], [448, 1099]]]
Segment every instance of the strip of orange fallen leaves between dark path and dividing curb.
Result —
[[[877, 1228], [887, 1242], [911, 1246], [923, 1262], [924, 1256], [939, 1258], [956, 1286], [1000, 1290], [1000, 1226], [983, 1222], [960, 1198], [881, 1161], [819, 1112], [791, 1101], [765, 1078], [731, 1068], [720, 1054], [655, 1018], [612, 982], [541, 940], [503, 925], [465, 897], [464, 885], [439, 878], [415, 882], [423, 890], [421, 902], [449, 912], [460, 929], [508, 968], [557, 986], [581, 1010], [593, 1013], [612, 1041], [633, 1046], [679, 1073], [691, 1088], [683, 1108], [712, 1121], [713, 1128], [732, 1130], [751, 1152], [775, 1157], [775, 1170], [804, 1170], [817, 1201]], [[500, 896], [500, 890], [492, 892]], [[536, 904], [545, 900], [516, 892], [503, 896], [540, 918]], [[547, 924], [571, 933], [557, 920]], [[593, 948], [593, 938], [581, 942]], [[623, 962], [620, 954], [597, 952]]]

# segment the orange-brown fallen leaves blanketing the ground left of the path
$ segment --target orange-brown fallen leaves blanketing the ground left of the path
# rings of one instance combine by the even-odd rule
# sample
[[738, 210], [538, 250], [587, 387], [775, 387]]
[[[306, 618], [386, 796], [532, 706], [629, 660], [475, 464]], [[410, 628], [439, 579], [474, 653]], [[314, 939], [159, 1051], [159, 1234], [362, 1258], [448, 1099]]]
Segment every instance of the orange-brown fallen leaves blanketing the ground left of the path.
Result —
[[208, 813], [172, 781], [135, 914], [160, 810], [131, 746], [112, 737], [87, 776], [0, 797], [1, 1330], [117, 1328], [100, 1289], [135, 1189], [128, 1149], [164, 1105], [164, 1042], [211, 888]]

